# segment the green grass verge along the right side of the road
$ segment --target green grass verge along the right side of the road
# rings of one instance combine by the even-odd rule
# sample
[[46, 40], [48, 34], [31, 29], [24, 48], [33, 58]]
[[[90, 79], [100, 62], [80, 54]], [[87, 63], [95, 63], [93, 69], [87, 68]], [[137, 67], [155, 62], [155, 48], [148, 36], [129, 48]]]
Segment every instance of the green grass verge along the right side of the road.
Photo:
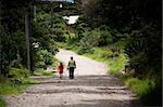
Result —
[[[122, 75], [122, 69], [127, 64], [127, 57], [125, 54], [112, 57], [110, 50], [96, 48], [93, 54], [84, 54], [92, 59], [103, 62], [109, 66], [109, 73], [117, 76], [121, 81], [129, 88], [139, 98], [146, 97], [155, 88], [155, 82], [152, 79], [138, 79], [133, 76]], [[112, 53], [111, 53], [112, 54]]]

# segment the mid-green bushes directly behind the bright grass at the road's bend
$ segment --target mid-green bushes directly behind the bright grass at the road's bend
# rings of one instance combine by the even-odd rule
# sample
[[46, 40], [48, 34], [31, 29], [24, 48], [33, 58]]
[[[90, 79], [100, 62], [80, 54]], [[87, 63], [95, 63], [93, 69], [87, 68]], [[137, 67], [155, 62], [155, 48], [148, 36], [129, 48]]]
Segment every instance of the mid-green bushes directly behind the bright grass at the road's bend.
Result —
[[124, 49], [123, 42], [118, 41], [120, 32], [117, 30], [112, 29], [106, 25], [101, 25], [98, 28], [86, 30], [86, 28], [89, 28], [85, 25], [85, 23], [79, 23], [78, 25], [77, 24], [77, 28], [75, 29], [75, 37], [76, 41], [79, 41], [78, 54], [92, 53], [93, 46], [109, 45], [110, 49], [112, 48], [112, 51], [115, 52], [115, 55], [116, 52], [121, 53]]

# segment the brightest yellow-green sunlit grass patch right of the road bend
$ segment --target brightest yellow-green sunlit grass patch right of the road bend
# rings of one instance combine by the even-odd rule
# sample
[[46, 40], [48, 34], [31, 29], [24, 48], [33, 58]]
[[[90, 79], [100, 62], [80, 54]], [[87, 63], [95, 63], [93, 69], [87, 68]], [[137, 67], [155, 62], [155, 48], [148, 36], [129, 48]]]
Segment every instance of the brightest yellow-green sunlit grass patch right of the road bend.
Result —
[[109, 73], [121, 75], [122, 69], [124, 69], [127, 58], [124, 54], [115, 55], [111, 50], [106, 48], [95, 48], [93, 54], [84, 54], [92, 59], [103, 62], [109, 66]]

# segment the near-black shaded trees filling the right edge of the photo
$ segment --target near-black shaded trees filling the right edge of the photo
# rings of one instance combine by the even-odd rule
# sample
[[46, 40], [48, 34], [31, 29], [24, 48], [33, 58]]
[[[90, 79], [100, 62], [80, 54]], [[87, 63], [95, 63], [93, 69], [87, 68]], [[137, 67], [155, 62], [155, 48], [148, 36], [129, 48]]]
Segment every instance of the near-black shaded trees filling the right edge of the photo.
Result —
[[129, 66], [136, 70], [135, 76], [154, 79], [155, 88], [150, 94], [161, 97], [161, 0], [83, 0], [83, 21], [89, 25], [88, 31], [105, 25], [100, 30], [99, 46], [115, 50], [120, 45], [129, 58]]

